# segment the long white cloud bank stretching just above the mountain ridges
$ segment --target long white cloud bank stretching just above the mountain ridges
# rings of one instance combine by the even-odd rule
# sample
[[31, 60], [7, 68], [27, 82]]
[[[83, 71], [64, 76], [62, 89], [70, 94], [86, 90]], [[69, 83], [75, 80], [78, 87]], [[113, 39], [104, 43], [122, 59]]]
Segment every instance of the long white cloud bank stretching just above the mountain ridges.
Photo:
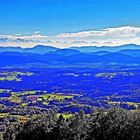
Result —
[[70, 46], [118, 46], [124, 44], [140, 45], [140, 28], [124, 26], [76, 33], [62, 33], [55, 36], [41, 35], [36, 31], [31, 36], [0, 35], [0, 46], [49, 45], [59, 48]]

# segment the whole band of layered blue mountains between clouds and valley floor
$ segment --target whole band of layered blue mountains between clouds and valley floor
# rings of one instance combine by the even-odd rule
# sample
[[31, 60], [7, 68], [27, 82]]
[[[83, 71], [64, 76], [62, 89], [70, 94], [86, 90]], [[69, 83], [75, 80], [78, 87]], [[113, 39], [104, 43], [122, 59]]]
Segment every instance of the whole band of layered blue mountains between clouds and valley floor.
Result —
[[38, 45], [33, 48], [0, 47], [0, 67], [14, 66], [89, 66], [140, 65], [140, 46], [129, 44], [117, 47], [71, 47], [58, 49]]

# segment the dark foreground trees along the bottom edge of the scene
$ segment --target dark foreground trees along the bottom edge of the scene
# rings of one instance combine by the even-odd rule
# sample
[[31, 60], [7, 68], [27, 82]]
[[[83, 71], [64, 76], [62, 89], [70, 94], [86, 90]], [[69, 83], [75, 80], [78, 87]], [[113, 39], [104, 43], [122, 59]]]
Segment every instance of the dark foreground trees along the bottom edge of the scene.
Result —
[[11, 125], [1, 140], [139, 140], [140, 112], [124, 109], [82, 110], [72, 117], [52, 110], [25, 124]]

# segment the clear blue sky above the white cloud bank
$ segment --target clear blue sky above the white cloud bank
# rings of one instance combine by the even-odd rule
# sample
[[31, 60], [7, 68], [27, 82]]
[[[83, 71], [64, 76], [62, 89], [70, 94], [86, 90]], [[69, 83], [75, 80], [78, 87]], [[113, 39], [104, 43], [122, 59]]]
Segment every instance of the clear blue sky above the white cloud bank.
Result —
[[0, 34], [140, 27], [139, 0], [0, 0]]

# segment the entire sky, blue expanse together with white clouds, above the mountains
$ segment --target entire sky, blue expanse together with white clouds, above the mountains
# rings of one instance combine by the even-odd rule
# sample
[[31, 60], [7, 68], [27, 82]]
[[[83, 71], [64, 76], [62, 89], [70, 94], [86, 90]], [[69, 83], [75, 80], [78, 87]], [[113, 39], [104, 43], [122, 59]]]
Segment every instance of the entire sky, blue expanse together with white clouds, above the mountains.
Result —
[[[127, 39], [140, 44], [139, 5], [139, 0], [0, 0], [0, 45], [115, 46]], [[95, 34], [111, 29], [114, 34], [107, 37]], [[125, 32], [124, 39], [118, 30]], [[64, 37], [72, 33], [73, 37]]]

